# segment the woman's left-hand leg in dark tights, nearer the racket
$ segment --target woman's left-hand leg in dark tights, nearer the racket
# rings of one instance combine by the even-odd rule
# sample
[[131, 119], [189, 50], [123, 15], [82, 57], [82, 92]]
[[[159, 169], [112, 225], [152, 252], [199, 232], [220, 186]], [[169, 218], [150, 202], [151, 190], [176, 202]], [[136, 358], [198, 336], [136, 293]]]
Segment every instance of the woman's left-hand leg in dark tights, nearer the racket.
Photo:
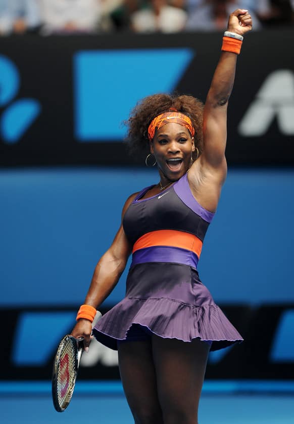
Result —
[[121, 380], [135, 424], [163, 424], [151, 338], [118, 345]]

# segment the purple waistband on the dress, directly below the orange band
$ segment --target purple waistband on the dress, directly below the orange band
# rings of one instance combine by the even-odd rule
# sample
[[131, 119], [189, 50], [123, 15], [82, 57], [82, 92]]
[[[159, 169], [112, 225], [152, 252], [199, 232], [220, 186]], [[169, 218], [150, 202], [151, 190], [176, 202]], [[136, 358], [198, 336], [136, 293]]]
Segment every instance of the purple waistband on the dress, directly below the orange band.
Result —
[[131, 267], [146, 262], [170, 262], [197, 269], [198, 257], [190, 250], [171, 246], [145, 247], [133, 253]]

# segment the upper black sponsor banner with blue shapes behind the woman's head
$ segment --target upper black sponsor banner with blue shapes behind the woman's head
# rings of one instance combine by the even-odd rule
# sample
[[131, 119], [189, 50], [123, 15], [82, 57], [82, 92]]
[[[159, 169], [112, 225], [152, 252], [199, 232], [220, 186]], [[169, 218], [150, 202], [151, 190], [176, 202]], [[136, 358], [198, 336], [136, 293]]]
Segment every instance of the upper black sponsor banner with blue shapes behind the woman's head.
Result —
[[[229, 104], [229, 164], [294, 163], [291, 29], [249, 34]], [[121, 122], [147, 95], [205, 100], [222, 33], [6, 37], [0, 46], [0, 165], [141, 164]], [[155, 47], [156, 46], [156, 47]]]

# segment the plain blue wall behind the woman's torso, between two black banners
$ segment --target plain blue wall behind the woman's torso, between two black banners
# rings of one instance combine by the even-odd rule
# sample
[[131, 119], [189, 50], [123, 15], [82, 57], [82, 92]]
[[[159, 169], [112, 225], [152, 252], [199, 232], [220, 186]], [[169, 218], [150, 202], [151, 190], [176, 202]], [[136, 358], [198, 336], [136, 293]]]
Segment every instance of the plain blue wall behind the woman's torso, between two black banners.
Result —
[[[0, 171], [0, 306], [81, 304], [124, 201], [157, 182], [154, 169]], [[217, 302], [294, 302], [293, 187], [290, 169], [229, 171], [199, 266]]]

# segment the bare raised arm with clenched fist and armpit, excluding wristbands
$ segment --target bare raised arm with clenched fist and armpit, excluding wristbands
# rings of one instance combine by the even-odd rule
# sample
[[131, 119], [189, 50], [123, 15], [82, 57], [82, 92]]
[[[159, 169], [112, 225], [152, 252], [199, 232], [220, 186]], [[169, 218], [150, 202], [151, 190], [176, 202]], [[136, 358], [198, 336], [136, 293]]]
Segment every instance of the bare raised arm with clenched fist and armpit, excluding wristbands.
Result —
[[[237, 9], [230, 15], [228, 31], [244, 35], [251, 29], [252, 19], [247, 11]], [[236, 53], [221, 52], [204, 107], [203, 152], [188, 173], [193, 195], [211, 211], [216, 210], [227, 172], [227, 107], [234, 84], [236, 62]]]

